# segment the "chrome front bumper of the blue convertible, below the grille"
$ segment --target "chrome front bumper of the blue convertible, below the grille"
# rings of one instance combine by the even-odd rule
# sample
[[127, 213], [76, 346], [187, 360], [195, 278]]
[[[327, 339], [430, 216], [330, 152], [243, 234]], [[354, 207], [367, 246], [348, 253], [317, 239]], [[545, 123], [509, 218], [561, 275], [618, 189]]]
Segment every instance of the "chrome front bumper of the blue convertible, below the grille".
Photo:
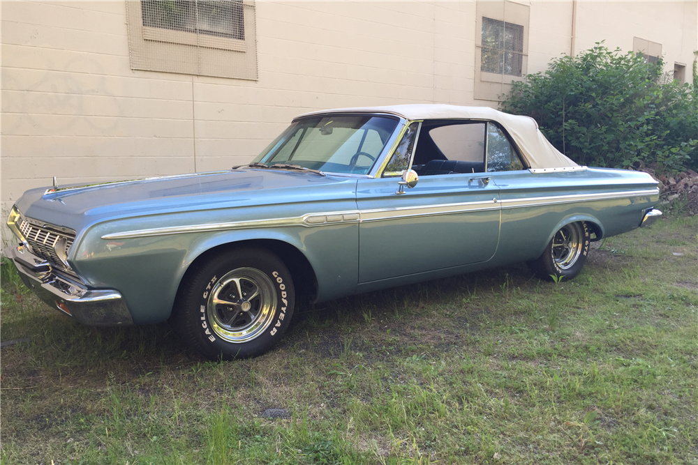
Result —
[[50, 307], [90, 326], [133, 324], [121, 294], [110, 289], [88, 289], [84, 282], [54, 270], [48, 261], [29, 252], [26, 246], [7, 247], [22, 282]]

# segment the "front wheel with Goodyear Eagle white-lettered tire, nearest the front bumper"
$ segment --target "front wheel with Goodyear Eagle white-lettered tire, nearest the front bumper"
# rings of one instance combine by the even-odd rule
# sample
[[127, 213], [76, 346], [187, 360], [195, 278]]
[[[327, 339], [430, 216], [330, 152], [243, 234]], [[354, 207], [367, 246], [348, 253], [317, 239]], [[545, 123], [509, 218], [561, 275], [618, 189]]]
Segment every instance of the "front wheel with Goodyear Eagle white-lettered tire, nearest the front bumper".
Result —
[[259, 248], [232, 249], [195, 265], [173, 319], [184, 342], [212, 360], [261, 355], [293, 314], [293, 280], [283, 261]]

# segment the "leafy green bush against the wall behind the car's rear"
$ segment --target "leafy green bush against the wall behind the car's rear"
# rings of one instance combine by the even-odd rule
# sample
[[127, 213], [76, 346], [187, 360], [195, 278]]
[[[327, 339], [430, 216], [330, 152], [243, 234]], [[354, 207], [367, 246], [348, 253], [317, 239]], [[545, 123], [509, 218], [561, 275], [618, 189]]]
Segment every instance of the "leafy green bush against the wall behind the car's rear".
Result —
[[502, 103], [532, 116], [550, 142], [580, 165], [698, 167], [698, 91], [662, 84], [662, 60], [602, 43], [554, 59], [544, 74], [515, 82]]

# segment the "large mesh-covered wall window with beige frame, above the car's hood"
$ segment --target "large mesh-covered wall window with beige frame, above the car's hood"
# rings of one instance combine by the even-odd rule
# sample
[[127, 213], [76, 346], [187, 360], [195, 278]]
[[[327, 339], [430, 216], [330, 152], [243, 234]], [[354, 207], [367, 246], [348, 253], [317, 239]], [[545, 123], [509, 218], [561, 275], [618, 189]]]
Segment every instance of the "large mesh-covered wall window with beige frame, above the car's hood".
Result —
[[253, 0], [126, 2], [134, 70], [257, 79]]

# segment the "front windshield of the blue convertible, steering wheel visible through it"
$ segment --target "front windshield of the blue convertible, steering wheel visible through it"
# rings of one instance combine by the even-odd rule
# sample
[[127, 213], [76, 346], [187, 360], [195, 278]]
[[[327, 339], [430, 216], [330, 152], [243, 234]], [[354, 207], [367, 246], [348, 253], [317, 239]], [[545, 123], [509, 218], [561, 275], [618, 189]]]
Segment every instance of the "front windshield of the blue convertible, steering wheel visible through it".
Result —
[[299, 165], [331, 173], [367, 174], [398, 124], [389, 116], [334, 115], [302, 119], [255, 162]]

